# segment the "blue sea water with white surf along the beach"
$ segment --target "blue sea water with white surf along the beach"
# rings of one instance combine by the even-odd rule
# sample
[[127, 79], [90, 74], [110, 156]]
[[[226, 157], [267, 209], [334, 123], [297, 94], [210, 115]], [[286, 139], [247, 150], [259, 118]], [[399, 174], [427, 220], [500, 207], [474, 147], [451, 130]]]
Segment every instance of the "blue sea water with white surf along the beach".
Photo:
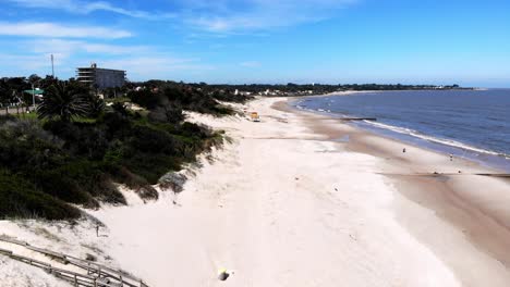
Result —
[[376, 117], [352, 124], [510, 172], [510, 89], [366, 92], [293, 105], [336, 117]]

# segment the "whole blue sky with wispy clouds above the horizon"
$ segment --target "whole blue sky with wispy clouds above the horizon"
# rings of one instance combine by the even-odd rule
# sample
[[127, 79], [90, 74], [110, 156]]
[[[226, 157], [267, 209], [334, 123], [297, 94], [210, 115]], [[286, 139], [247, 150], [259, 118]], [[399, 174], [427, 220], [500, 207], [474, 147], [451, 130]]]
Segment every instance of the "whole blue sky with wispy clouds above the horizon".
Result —
[[510, 1], [0, 0], [0, 76], [510, 87]]

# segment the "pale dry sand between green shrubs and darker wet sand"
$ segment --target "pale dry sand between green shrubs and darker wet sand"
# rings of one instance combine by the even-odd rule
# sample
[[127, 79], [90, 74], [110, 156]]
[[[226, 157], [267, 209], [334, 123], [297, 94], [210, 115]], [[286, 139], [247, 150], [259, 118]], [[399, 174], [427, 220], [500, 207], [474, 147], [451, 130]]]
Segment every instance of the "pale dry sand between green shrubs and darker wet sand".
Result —
[[[108, 237], [95, 238], [85, 223], [62, 237], [74, 246], [96, 245], [113, 259], [100, 261], [151, 287], [461, 286], [444, 260], [397, 221], [403, 208], [396, 204], [416, 219], [433, 215], [420, 215], [422, 207], [377, 174], [384, 160], [324, 141], [299, 115], [271, 109], [278, 100], [248, 104], [262, 123], [191, 114], [227, 130], [233, 142], [214, 151], [214, 162], [203, 160], [183, 192], [162, 191], [147, 204], [130, 196], [129, 207], [89, 212], [108, 226]], [[36, 240], [8, 222], [0, 222], [2, 233]], [[65, 246], [73, 242], [56, 248]], [[232, 272], [227, 282], [217, 279], [221, 267]]]

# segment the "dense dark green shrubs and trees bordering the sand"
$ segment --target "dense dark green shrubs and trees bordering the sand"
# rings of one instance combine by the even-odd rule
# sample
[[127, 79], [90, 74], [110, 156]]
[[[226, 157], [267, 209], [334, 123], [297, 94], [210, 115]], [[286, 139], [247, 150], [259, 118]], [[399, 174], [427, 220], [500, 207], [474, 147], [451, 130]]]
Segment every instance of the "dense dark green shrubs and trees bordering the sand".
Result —
[[[20, 85], [3, 85], [3, 96], [27, 88], [12, 82]], [[110, 104], [74, 80], [48, 83], [37, 117], [0, 117], [0, 219], [76, 219], [76, 205], [125, 204], [114, 183], [157, 199], [151, 185], [222, 140], [186, 123], [183, 110], [232, 113], [217, 101], [230, 96], [170, 82], [147, 83]]]

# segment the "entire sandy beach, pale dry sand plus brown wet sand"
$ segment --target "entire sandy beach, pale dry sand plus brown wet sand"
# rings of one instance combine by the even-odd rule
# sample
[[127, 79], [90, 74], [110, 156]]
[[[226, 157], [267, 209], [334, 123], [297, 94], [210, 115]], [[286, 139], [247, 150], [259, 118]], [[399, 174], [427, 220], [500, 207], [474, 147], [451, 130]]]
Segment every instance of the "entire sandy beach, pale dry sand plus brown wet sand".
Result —
[[[92, 253], [151, 287], [510, 285], [510, 179], [287, 102], [236, 107], [260, 123], [190, 113], [230, 142], [183, 171], [178, 195], [143, 202], [124, 189], [127, 207], [86, 211], [101, 237], [89, 221], [1, 221], [0, 235]], [[0, 277], [66, 286], [1, 255]]]

